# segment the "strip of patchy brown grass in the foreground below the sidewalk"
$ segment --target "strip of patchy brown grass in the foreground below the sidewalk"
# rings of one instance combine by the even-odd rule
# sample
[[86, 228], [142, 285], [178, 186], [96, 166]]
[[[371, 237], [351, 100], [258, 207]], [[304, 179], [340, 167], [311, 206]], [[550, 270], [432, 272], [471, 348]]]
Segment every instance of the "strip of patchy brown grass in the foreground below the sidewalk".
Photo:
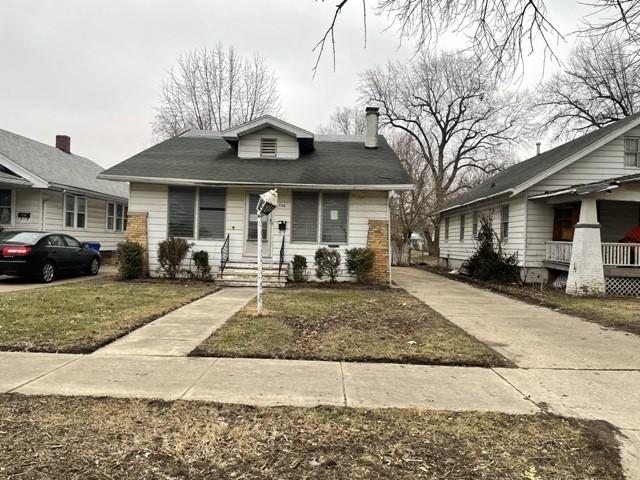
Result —
[[0, 395], [3, 478], [623, 480], [611, 430], [551, 415]]

